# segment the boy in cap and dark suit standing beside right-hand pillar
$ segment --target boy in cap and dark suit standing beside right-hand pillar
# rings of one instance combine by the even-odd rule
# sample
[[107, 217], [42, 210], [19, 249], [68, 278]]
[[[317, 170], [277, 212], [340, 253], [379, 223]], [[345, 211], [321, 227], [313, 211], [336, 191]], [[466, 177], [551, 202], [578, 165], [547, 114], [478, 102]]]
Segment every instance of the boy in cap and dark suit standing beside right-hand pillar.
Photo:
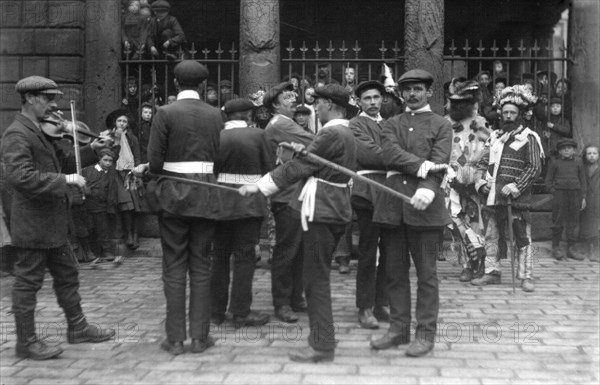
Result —
[[556, 145], [559, 156], [550, 161], [546, 173], [546, 187], [554, 198], [552, 203], [552, 257], [564, 259], [560, 251], [563, 227], [567, 228], [567, 258], [583, 260], [575, 252], [579, 232], [579, 211], [585, 208], [585, 168], [575, 157], [577, 143], [561, 139]]

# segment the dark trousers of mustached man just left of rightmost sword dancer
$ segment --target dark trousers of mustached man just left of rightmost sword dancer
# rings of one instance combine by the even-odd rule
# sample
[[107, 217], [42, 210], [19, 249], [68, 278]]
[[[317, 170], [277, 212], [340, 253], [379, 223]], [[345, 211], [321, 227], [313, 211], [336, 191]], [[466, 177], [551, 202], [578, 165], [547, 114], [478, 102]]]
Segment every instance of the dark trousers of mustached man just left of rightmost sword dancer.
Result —
[[355, 208], [360, 238], [358, 241], [358, 268], [356, 270], [356, 307], [387, 306], [386, 258], [383, 250], [377, 265], [379, 226], [373, 223], [373, 210]]

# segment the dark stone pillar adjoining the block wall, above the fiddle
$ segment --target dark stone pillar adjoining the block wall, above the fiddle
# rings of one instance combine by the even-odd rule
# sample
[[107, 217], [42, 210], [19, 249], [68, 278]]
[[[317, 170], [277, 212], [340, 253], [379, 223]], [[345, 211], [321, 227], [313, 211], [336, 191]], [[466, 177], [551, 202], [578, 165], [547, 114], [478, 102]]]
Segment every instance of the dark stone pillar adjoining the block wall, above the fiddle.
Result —
[[104, 119], [119, 107], [122, 98], [121, 1], [85, 2], [85, 79], [86, 123], [94, 131], [104, 130]]

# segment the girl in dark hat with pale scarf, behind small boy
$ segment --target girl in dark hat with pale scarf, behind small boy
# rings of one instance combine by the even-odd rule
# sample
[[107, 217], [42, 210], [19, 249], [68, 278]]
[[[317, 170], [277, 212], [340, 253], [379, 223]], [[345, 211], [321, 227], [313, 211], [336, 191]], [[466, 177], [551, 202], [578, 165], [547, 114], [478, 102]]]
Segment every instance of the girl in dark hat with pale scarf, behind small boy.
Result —
[[121, 220], [124, 231], [125, 244], [132, 250], [139, 247], [137, 221], [135, 213], [140, 211], [139, 197], [136, 190], [125, 188], [125, 177], [138, 164], [140, 164], [140, 145], [138, 139], [129, 129], [129, 115], [126, 110], [111, 112], [106, 118], [108, 130], [103, 135], [118, 136], [115, 142], [120, 144], [117, 159], [114, 162], [116, 168], [117, 189], [117, 215]]

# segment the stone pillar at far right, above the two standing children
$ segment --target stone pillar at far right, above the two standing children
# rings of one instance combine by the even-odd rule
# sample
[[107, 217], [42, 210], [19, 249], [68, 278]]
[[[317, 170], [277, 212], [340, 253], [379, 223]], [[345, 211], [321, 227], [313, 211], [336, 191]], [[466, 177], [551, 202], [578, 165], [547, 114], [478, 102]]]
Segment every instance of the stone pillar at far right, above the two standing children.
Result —
[[573, 1], [570, 19], [569, 51], [573, 136], [584, 145], [598, 144], [600, 136], [600, 3], [597, 0]]

